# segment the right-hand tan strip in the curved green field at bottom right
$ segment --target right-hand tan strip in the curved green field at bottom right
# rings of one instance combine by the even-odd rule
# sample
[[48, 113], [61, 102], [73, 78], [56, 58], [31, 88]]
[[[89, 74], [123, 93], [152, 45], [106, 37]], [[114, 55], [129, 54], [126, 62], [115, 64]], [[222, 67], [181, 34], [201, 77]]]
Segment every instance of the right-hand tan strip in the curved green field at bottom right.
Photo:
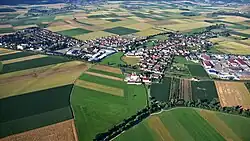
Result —
[[200, 110], [200, 115], [206, 121], [210, 123], [210, 125], [219, 132], [227, 141], [240, 141], [241, 139], [233, 132], [228, 125], [222, 121], [216, 113], [208, 110]]

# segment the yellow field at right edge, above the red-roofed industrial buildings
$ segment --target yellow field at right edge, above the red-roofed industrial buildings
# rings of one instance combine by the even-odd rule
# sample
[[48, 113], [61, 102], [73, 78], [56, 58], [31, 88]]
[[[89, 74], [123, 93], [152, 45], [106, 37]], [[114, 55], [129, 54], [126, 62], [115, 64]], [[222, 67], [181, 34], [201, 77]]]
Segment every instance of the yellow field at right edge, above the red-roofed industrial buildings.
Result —
[[244, 44], [240, 44], [232, 41], [219, 42], [218, 49], [224, 53], [250, 54], [250, 47]]

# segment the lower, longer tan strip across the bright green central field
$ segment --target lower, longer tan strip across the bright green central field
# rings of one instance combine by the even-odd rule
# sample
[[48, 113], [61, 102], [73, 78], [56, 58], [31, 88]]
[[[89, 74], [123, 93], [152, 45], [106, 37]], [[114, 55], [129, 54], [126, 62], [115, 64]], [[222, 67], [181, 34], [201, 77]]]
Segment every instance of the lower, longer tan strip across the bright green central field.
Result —
[[84, 80], [77, 80], [75, 84], [83, 88], [87, 88], [87, 89], [91, 89], [91, 90], [95, 90], [99, 92], [104, 92], [104, 93], [112, 94], [115, 96], [122, 96], [122, 97], [124, 96], [123, 89], [119, 89], [115, 87], [100, 85], [100, 84], [96, 84], [96, 83], [92, 83], [92, 82], [88, 82]]

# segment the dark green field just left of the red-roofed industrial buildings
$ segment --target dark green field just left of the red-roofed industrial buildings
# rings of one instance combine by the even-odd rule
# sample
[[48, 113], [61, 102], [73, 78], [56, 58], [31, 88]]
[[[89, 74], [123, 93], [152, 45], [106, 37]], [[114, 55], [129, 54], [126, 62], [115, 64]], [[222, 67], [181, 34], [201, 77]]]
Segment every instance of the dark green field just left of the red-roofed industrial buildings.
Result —
[[207, 72], [201, 65], [189, 64], [187, 65], [192, 76], [194, 77], [208, 77]]

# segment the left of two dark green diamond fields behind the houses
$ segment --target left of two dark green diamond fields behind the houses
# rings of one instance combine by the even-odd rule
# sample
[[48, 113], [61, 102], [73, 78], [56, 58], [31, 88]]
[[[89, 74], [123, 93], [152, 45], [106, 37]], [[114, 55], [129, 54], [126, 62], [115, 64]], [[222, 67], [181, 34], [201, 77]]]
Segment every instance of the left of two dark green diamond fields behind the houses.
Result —
[[92, 31], [86, 30], [83, 28], [74, 28], [74, 29], [59, 31], [57, 33], [72, 37], [72, 36], [77, 36], [77, 35], [81, 35], [81, 34], [87, 34], [90, 32], [92, 32]]

